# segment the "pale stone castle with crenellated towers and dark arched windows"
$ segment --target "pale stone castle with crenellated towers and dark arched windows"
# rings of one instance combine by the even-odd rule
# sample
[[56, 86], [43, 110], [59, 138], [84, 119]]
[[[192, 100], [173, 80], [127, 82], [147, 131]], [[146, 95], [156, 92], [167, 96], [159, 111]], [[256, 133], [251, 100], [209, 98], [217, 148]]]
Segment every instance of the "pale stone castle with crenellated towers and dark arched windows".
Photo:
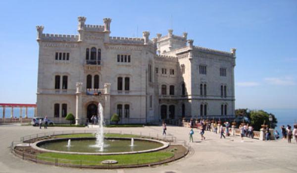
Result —
[[85, 124], [103, 106], [106, 124], [118, 114], [121, 124], [162, 119], [234, 118], [236, 49], [219, 51], [193, 45], [168, 30], [149, 40], [110, 37], [104, 25], [78, 17], [78, 35], [44, 34], [39, 43], [37, 116], [66, 123], [72, 113]]

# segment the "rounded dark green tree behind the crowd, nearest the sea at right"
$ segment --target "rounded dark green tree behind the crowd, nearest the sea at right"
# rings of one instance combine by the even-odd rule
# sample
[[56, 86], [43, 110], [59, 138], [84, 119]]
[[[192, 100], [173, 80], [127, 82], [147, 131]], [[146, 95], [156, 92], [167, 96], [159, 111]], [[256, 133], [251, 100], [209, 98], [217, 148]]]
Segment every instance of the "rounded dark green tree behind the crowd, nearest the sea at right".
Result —
[[[261, 129], [261, 125], [265, 124], [266, 125], [270, 125], [269, 122], [269, 115], [272, 116], [272, 122], [271, 122], [271, 128], [275, 128], [277, 125], [277, 119], [275, 118], [275, 116], [271, 113], [267, 113], [263, 110], [258, 110], [258, 111], [250, 111], [250, 123], [252, 124], [254, 130], [260, 130]], [[270, 127], [270, 126], [269, 126]]]

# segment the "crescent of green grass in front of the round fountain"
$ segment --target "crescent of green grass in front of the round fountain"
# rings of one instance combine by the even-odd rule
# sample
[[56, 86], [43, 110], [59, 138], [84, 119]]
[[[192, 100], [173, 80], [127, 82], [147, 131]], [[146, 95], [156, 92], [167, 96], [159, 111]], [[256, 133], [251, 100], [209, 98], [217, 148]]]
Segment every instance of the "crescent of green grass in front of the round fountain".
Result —
[[159, 162], [174, 156], [174, 152], [156, 151], [151, 153], [125, 154], [125, 155], [78, 155], [78, 154], [61, 154], [61, 153], [41, 153], [37, 155], [40, 160], [74, 165], [103, 165], [103, 160], [116, 160], [115, 165], [135, 165]]

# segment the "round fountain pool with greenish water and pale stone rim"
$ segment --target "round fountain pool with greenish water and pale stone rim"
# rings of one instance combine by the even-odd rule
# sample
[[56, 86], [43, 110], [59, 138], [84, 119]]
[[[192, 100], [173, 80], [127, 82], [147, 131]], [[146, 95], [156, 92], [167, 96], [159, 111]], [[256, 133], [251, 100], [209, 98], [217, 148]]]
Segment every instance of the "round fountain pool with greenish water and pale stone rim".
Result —
[[[70, 147], [67, 146], [68, 139], [71, 139]], [[152, 152], [169, 146], [167, 142], [154, 139], [133, 139], [134, 145], [131, 146], [131, 138], [105, 137], [103, 151], [99, 151], [100, 147], [96, 146], [95, 137], [46, 139], [33, 143], [32, 147], [44, 152], [85, 155], [114, 155]]]

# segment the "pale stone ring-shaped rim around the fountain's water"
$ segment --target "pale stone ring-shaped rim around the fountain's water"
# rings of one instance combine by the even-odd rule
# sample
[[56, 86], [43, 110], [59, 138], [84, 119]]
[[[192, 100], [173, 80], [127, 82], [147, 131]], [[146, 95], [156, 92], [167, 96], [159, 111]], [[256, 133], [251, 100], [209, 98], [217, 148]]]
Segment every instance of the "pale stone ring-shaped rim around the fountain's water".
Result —
[[158, 148], [153, 148], [149, 150], [141, 150], [141, 151], [128, 151], [128, 152], [112, 152], [112, 153], [88, 153], [88, 152], [69, 152], [69, 151], [57, 151], [57, 150], [48, 150], [45, 148], [40, 148], [38, 144], [48, 142], [48, 141], [57, 141], [57, 140], [68, 140], [68, 139], [96, 139], [96, 137], [63, 137], [63, 138], [53, 138], [53, 139], [44, 139], [37, 142], [32, 143], [31, 147], [33, 149], [43, 151], [43, 152], [50, 152], [50, 153], [61, 153], [61, 154], [81, 154], [81, 155], [122, 155], [122, 154], [139, 154], [139, 153], [148, 153], [153, 151], [159, 151], [165, 149], [169, 146], [169, 143], [156, 140], [156, 139], [148, 139], [148, 138], [140, 138], [140, 137], [104, 137], [105, 139], [132, 139], [134, 140], [146, 140], [151, 142], [158, 142], [163, 144], [163, 146]]

